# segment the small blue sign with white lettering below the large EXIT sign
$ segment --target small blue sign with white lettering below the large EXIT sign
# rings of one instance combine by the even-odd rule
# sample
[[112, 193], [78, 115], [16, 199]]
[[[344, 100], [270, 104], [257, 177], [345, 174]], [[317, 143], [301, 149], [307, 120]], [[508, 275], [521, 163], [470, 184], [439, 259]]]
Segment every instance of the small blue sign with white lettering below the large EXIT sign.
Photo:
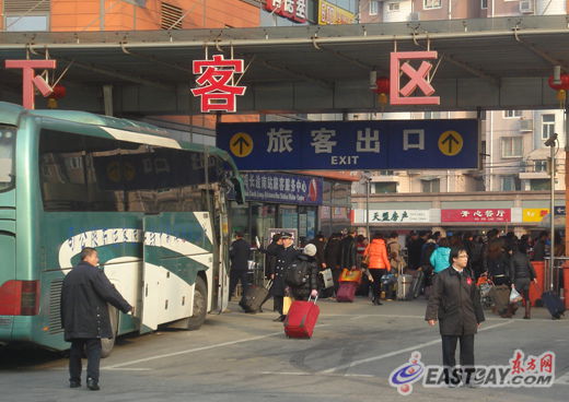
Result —
[[243, 173], [245, 199], [288, 204], [322, 204], [321, 177], [272, 173]]

